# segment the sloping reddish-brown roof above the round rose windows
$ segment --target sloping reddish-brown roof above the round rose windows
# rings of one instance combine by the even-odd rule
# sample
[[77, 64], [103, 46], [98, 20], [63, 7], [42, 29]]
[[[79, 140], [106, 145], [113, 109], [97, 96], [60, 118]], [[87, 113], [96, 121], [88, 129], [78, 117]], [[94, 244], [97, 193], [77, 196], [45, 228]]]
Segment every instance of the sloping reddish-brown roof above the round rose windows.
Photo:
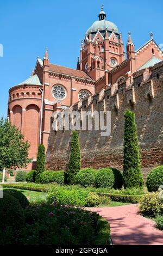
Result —
[[[66, 68], [65, 66], [49, 64], [49, 71], [57, 72], [57, 73], [60, 73], [60, 74], [63, 74], [63, 75], [75, 76], [75, 77], [80, 77], [80, 78], [83, 78], [83, 79], [92, 80], [92, 78], [89, 77], [84, 71], [71, 69], [71, 68]], [[94, 80], [92, 80], [92, 81], [94, 81]]]

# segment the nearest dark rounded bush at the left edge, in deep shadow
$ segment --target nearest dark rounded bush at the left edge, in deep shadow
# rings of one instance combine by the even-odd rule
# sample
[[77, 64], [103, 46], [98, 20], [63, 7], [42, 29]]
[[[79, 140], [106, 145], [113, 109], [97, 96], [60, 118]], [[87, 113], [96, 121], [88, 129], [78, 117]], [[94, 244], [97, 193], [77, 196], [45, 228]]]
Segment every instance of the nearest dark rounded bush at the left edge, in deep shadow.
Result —
[[0, 229], [6, 227], [14, 229], [21, 228], [24, 225], [24, 212], [18, 200], [9, 193], [3, 194], [0, 199]]

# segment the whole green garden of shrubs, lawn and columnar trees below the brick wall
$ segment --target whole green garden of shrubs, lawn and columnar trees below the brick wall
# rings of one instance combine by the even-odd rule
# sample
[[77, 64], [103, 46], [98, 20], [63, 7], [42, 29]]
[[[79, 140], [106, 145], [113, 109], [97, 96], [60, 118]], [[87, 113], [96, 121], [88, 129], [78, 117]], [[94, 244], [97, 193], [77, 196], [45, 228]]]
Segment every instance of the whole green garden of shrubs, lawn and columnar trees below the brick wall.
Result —
[[[27, 157], [28, 144], [25, 146]], [[0, 167], [9, 169], [11, 162], [4, 159]], [[21, 163], [22, 159], [17, 167], [22, 167]], [[72, 132], [66, 171], [46, 170], [45, 147], [40, 144], [36, 169], [28, 173], [19, 170], [16, 182], [2, 184], [0, 244], [109, 245], [109, 223], [91, 209], [86, 210], [92, 207], [139, 204], [139, 213], [163, 230], [163, 166], [143, 179], [133, 112], [125, 112], [123, 173], [112, 167], [81, 166], [77, 131]]]

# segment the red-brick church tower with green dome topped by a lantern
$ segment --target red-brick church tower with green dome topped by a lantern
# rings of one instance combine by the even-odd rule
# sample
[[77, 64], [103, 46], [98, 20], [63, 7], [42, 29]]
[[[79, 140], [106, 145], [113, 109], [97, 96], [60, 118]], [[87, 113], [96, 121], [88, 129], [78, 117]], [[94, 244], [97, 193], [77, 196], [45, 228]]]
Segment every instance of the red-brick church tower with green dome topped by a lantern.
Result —
[[80, 70], [96, 81], [105, 70], [115, 68], [125, 59], [122, 34], [115, 23], [106, 20], [103, 5], [98, 18], [87, 30], [80, 48]]

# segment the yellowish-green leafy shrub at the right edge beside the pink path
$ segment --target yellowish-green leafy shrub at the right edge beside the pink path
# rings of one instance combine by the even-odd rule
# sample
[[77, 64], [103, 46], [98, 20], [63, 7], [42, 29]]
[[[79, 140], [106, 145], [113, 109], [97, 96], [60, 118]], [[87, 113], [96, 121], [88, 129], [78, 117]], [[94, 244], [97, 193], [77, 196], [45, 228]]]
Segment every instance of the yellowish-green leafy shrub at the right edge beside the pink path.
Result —
[[156, 216], [163, 213], [163, 202], [159, 192], [147, 193], [140, 202], [140, 212], [145, 216]]

